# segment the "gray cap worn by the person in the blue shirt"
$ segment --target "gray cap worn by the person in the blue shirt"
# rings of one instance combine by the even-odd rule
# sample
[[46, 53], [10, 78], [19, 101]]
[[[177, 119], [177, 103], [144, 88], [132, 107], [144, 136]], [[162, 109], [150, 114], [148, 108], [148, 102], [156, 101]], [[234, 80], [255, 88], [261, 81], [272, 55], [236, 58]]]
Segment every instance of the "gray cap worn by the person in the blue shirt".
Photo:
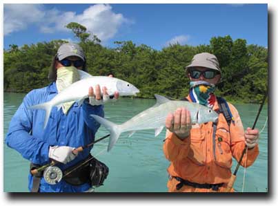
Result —
[[84, 51], [78, 44], [74, 44], [74, 43], [62, 44], [57, 51], [58, 59], [61, 61], [62, 59], [65, 59], [66, 57], [70, 57], [70, 56], [79, 57], [85, 62]]

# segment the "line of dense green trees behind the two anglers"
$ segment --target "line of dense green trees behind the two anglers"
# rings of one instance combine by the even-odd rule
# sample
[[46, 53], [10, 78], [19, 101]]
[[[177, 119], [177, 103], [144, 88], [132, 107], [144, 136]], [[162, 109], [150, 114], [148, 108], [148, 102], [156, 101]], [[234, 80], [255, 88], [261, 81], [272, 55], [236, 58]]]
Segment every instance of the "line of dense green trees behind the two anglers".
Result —
[[[154, 94], [180, 99], [188, 94], [189, 80], [185, 66], [197, 53], [217, 56], [222, 78], [217, 95], [232, 102], [257, 103], [268, 86], [268, 49], [248, 45], [246, 39], [212, 37], [210, 44], [190, 46], [172, 44], [155, 50], [132, 41], [115, 41], [115, 48], [101, 45], [86, 27], [72, 22], [72, 30], [86, 53], [86, 66], [91, 75], [112, 74], [139, 88], [138, 97]], [[66, 41], [53, 40], [37, 44], [10, 45], [3, 51], [3, 88], [5, 92], [28, 93], [49, 84], [48, 71], [59, 46]]]

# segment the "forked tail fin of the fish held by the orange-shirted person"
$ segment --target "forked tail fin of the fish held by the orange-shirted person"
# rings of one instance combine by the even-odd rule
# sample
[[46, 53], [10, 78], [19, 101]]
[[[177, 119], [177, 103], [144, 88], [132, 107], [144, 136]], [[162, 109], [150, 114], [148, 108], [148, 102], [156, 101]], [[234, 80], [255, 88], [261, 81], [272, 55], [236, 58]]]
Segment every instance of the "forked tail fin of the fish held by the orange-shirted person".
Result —
[[119, 139], [119, 135], [121, 135], [121, 127], [119, 124], [115, 124], [106, 120], [104, 118], [99, 117], [98, 115], [91, 115], [97, 122], [103, 124], [103, 126], [110, 131], [110, 139], [108, 144], [107, 151], [110, 151], [114, 144], [116, 144], [117, 140]]

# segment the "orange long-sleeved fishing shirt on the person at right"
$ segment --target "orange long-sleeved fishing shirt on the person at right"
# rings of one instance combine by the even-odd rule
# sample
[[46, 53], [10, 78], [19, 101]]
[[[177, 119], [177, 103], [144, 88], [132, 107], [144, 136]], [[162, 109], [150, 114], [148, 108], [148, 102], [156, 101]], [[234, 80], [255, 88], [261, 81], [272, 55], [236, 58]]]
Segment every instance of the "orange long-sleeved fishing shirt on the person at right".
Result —
[[[189, 95], [187, 99], [191, 102]], [[235, 118], [235, 123], [231, 122], [229, 127], [224, 115], [220, 113], [215, 139], [212, 122], [192, 125], [189, 137], [184, 140], [177, 138], [175, 133], [167, 131], [163, 151], [170, 161], [168, 167], [170, 177], [177, 176], [199, 184], [224, 183], [224, 186], [219, 187], [218, 190], [224, 191], [232, 175], [232, 157], [239, 161], [245, 148], [244, 127], [239, 113], [232, 104], [228, 103], [228, 106]], [[219, 110], [217, 101], [213, 109]], [[258, 155], [258, 145], [248, 149], [247, 162], [245, 154], [241, 166], [249, 167]], [[177, 190], [177, 183], [175, 178], [170, 178], [168, 191], [212, 191], [212, 189], [192, 188], [187, 185]]]

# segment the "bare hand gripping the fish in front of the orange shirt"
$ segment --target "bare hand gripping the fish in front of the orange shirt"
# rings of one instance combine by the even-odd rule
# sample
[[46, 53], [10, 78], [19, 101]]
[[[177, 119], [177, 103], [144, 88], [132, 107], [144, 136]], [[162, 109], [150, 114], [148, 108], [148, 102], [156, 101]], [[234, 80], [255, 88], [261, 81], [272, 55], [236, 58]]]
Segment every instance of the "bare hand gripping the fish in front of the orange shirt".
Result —
[[187, 138], [192, 128], [190, 112], [185, 108], [178, 108], [174, 114], [169, 113], [166, 118], [166, 128], [180, 139]]

